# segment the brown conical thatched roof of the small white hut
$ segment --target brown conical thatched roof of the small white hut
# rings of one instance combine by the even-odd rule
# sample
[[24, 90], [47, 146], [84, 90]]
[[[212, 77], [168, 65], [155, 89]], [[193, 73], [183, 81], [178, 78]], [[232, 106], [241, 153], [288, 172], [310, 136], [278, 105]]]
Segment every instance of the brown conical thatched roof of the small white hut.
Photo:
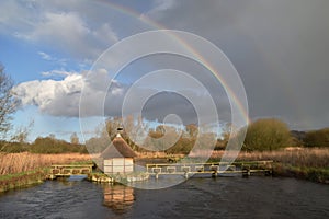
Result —
[[112, 158], [135, 158], [137, 154], [133, 149], [127, 145], [127, 142], [117, 135], [112, 143], [101, 153], [103, 159]]

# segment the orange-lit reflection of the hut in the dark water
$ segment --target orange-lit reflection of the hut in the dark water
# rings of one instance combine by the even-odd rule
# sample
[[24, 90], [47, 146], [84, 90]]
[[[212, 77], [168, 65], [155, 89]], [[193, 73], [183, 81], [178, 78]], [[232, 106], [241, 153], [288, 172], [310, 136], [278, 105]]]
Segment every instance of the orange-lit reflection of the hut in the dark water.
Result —
[[116, 214], [124, 214], [134, 204], [134, 188], [124, 185], [104, 185], [104, 205]]

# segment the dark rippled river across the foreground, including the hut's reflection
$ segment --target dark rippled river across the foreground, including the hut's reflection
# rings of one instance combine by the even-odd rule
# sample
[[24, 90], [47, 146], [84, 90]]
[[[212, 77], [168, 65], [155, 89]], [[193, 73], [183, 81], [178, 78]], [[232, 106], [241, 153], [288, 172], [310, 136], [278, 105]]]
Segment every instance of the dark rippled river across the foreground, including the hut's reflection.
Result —
[[1, 194], [0, 218], [329, 218], [329, 186], [258, 176], [190, 178], [152, 191], [47, 181]]

